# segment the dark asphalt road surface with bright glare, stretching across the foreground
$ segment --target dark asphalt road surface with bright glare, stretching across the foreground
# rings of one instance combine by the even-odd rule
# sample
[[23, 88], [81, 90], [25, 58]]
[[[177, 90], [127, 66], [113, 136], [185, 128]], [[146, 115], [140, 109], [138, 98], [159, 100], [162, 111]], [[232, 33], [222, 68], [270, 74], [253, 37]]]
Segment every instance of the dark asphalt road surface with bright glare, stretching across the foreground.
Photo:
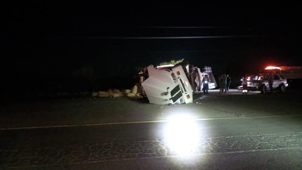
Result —
[[301, 92], [2, 103], [0, 169], [302, 169]]

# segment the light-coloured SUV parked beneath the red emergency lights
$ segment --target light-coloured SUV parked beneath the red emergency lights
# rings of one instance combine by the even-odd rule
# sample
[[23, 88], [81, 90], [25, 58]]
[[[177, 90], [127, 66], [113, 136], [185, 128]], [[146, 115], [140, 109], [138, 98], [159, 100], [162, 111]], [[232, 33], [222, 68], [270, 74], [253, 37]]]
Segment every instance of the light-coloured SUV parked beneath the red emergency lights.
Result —
[[[260, 91], [266, 93], [269, 89], [269, 74], [258, 74], [248, 77], [248, 91]], [[279, 89], [280, 92], [284, 92], [288, 83], [286, 78], [282, 74], [273, 74], [274, 82], [273, 89]], [[242, 90], [242, 86], [237, 87], [238, 90]]]

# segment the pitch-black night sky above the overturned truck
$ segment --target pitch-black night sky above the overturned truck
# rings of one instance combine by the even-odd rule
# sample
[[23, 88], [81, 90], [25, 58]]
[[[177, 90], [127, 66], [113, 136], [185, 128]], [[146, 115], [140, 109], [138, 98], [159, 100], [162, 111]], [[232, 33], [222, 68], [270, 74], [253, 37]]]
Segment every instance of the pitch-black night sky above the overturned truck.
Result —
[[[128, 78], [141, 67], [182, 58], [211, 66], [214, 74], [302, 65], [301, 3], [3, 7], [2, 85], [11, 90], [71, 86], [83, 67], [92, 68], [94, 82]], [[153, 39], [198, 36], [226, 37]]]

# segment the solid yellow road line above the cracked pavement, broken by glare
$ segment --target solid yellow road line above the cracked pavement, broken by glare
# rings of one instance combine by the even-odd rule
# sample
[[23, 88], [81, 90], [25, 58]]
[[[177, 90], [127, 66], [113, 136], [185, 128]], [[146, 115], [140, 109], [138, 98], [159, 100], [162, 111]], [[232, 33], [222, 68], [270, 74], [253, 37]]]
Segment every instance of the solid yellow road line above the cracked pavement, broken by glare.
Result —
[[[277, 118], [277, 117], [293, 117], [293, 116], [302, 116], [302, 114], [299, 114], [299, 115], [276, 115], [276, 116], [254, 116], [254, 117], [229, 117], [229, 118], [196, 118], [195, 121], [242, 119], [242, 118]], [[150, 121], [135, 121], [135, 122], [113, 122], [113, 123], [94, 123], [94, 124], [78, 124], [78, 125], [36, 126], [36, 127], [20, 127], [20, 128], [0, 128], [0, 130], [68, 128], [68, 127], [81, 127], [81, 126], [102, 126], [102, 125], [134, 124], [134, 123], [159, 123], [159, 122], [168, 122], [168, 121], [169, 120], [150, 120]]]

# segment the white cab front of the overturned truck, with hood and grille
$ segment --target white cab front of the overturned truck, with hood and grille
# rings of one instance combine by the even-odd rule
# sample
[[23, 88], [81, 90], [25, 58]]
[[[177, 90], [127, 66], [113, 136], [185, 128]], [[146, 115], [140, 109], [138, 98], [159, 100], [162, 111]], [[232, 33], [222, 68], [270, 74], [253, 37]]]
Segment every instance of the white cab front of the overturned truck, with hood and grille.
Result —
[[142, 83], [149, 102], [154, 104], [193, 103], [193, 90], [181, 65], [169, 69], [148, 67], [149, 77]]

